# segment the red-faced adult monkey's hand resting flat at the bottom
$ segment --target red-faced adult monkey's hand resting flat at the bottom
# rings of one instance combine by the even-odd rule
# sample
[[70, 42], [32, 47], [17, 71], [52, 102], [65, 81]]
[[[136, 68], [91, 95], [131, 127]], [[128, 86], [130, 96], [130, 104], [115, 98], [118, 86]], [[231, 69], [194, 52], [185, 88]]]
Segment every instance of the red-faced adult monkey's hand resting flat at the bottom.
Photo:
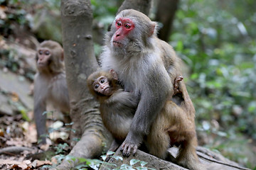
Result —
[[129, 157], [131, 153], [134, 155], [137, 152], [137, 149], [140, 145], [140, 142], [138, 140], [139, 138], [140, 137], [137, 137], [136, 135], [129, 135], [128, 133], [120, 148], [124, 157]]

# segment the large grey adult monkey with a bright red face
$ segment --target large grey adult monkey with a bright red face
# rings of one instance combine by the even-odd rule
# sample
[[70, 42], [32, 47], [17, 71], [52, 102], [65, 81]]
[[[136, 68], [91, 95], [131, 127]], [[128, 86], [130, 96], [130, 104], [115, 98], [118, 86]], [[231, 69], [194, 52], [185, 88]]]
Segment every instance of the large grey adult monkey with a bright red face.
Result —
[[[172, 120], [176, 119], [175, 115], [180, 115], [175, 120], [175, 126], [168, 130], [170, 136], [175, 136], [171, 144], [181, 145], [177, 162], [189, 169], [200, 169], [196, 164], [193, 103], [183, 81], [179, 83], [181, 94], [173, 96], [174, 88], [170, 86], [181, 75], [179, 62], [171, 45], [156, 37], [155, 22], [133, 9], [117, 14], [106, 35], [101, 56], [102, 69], [114, 69], [124, 85], [124, 91], [131, 92], [139, 100], [129, 132], [121, 145], [123, 155], [129, 156], [137, 151], [144, 137], [149, 135], [152, 123], [160, 113], [164, 113], [161, 110], [172, 98], [178, 104], [172, 103]], [[180, 128], [183, 125], [187, 126], [185, 131], [193, 131], [191, 134], [194, 135], [183, 135]]]

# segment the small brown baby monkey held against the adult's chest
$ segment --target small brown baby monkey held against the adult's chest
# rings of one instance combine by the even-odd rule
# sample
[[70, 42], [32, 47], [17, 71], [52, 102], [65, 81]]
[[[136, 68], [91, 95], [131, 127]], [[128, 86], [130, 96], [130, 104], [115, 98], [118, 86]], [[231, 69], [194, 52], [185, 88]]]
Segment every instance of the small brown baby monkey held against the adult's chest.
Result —
[[114, 137], [110, 150], [115, 151], [129, 132], [139, 100], [122, 89], [113, 69], [110, 72], [92, 73], [87, 85], [90, 93], [100, 102], [103, 124]]

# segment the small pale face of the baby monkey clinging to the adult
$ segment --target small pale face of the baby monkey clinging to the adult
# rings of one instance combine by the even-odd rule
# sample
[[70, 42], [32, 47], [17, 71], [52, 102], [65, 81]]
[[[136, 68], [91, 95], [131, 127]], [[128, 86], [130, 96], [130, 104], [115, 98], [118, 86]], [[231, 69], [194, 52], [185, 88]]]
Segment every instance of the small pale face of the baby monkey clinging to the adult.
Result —
[[95, 81], [92, 84], [92, 88], [98, 93], [103, 94], [105, 96], [111, 95], [110, 82], [107, 80], [107, 77], [101, 76], [95, 79]]

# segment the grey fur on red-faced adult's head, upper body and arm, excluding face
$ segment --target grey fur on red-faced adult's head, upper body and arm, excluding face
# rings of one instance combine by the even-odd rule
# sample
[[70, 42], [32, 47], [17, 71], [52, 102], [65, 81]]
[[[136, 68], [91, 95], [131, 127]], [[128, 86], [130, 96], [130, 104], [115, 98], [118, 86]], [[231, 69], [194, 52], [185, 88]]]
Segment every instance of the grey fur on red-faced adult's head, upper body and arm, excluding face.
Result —
[[[163, 108], [167, 98], [174, 93], [174, 78], [177, 77], [178, 58], [172, 47], [156, 38], [156, 29], [149, 35], [156, 23], [134, 10], [124, 10], [116, 18], [130, 18], [135, 28], [123, 40], [123, 47], [113, 47], [116, 31], [114, 23], [106, 35], [101, 66], [105, 71], [114, 69], [124, 90], [139, 98], [139, 105], [132, 120], [127, 141], [134, 145], [142, 142], [149, 133], [151, 123]], [[138, 19], [139, 18], [139, 19]], [[153, 29], [154, 29], [153, 28]]]

